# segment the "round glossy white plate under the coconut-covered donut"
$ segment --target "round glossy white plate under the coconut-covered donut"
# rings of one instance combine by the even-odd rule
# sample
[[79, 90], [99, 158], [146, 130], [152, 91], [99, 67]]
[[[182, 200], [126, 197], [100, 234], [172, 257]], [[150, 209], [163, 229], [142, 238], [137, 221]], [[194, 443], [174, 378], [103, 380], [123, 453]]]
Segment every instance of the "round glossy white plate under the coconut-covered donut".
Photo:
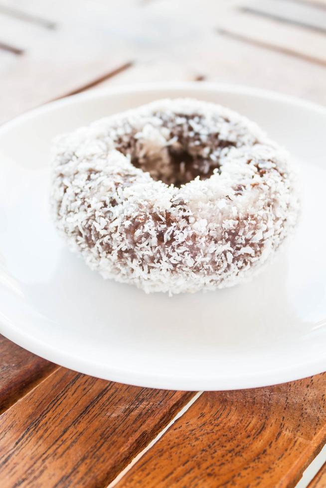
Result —
[[[49, 218], [57, 133], [162, 97], [214, 101], [258, 122], [298, 161], [295, 238], [248, 284], [146, 295], [104, 281], [71, 254]], [[326, 370], [326, 109], [244, 87], [155, 84], [87, 92], [0, 128], [0, 332], [48, 360], [115, 381], [233, 389]]]

